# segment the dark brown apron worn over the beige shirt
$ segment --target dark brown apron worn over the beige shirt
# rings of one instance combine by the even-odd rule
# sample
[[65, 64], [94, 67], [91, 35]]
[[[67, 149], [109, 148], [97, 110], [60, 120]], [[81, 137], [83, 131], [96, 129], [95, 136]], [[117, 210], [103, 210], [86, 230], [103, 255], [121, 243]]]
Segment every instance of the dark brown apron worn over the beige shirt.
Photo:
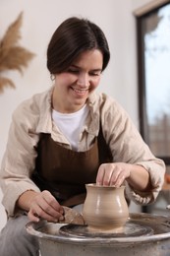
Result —
[[50, 134], [42, 133], [37, 144], [32, 180], [40, 190], [48, 190], [62, 205], [72, 207], [85, 201], [85, 184], [95, 183], [99, 165], [112, 161], [100, 129], [86, 152], [60, 146]]

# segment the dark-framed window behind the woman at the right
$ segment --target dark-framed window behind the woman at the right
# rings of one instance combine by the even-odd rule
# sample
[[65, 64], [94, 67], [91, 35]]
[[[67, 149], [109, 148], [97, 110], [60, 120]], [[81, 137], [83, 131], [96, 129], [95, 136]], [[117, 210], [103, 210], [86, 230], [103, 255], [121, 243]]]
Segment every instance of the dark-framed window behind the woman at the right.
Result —
[[140, 128], [153, 154], [170, 165], [170, 2], [137, 17]]

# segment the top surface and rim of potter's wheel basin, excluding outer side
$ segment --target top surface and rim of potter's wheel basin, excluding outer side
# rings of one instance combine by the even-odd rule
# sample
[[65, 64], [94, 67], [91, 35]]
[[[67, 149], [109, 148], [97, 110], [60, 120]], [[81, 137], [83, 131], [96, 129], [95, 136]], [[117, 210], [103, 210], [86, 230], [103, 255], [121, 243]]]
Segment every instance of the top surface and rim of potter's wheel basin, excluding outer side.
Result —
[[[27, 225], [28, 232], [43, 238], [67, 241], [68, 243], [79, 242], [93, 244], [103, 242], [114, 244], [157, 241], [170, 238], [170, 219], [165, 216], [149, 214], [130, 214], [130, 218], [121, 231], [97, 232], [91, 231], [86, 225], [79, 224], [39, 224]], [[109, 238], [109, 239], [108, 239]]]

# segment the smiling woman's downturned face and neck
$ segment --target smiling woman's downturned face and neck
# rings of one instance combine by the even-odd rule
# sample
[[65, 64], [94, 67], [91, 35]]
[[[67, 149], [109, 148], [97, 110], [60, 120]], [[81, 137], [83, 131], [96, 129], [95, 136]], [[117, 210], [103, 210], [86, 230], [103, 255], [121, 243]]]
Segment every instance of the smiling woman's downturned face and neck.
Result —
[[101, 51], [85, 51], [63, 73], [56, 74], [53, 108], [70, 113], [81, 109], [99, 84], [103, 65]]

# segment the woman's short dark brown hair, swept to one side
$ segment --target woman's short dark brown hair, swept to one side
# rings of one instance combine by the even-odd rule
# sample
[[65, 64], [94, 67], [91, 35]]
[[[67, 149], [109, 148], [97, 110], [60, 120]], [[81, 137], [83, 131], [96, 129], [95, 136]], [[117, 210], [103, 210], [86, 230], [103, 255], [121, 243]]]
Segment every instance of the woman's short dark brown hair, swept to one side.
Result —
[[103, 71], [110, 59], [104, 33], [88, 20], [69, 18], [51, 37], [47, 48], [47, 68], [51, 74], [62, 73], [82, 52], [92, 49], [99, 49], [103, 54]]

